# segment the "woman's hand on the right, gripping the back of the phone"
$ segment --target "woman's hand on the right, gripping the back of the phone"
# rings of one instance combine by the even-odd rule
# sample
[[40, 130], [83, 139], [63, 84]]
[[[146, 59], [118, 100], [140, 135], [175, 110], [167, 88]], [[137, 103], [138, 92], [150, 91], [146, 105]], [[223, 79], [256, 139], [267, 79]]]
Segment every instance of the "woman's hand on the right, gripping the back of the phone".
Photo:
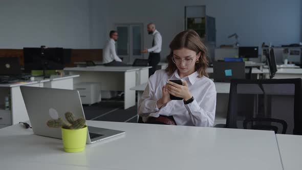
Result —
[[167, 89], [171, 95], [181, 97], [185, 101], [187, 101], [188, 99], [192, 98], [192, 95], [189, 91], [187, 81], [182, 80], [182, 82], [184, 86], [181, 86], [180, 84], [177, 84], [175, 82], [168, 81]]

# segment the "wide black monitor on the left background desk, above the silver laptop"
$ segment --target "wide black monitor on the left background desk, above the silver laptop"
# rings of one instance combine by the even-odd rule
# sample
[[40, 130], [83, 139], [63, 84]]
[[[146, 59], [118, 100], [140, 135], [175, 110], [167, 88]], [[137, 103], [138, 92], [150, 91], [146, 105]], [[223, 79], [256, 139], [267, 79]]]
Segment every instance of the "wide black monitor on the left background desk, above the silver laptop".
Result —
[[25, 70], [62, 70], [63, 48], [23, 48]]

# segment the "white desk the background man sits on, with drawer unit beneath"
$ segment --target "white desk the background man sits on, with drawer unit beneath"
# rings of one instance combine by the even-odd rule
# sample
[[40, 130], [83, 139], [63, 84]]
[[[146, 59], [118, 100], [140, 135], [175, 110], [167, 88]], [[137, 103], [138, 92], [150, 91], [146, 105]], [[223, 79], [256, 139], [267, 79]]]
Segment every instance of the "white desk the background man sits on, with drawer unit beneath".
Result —
[[64, 71], [80, 75], [74, 83], [98, 82], [102, 91], [124, 91], [124, 109], [128, 109], [135, 105], [135, 92], [130, 88], [148, 81], [149, 68], [94, 66], [65, 68]]

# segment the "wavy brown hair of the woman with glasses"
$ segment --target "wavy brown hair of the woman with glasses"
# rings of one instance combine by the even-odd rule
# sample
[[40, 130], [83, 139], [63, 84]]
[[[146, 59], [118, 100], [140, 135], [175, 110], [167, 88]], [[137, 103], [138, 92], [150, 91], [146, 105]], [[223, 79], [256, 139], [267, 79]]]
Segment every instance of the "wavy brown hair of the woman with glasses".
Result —
[[198, 72], [198, 77], [206, 76], [208, 77], [208, 73], [206, 69], [208, 68], [208, 58], [207, 58], [207, 48], [201, 42], [200, 36], [193, 30], [187, 30], [180, 32], [175, 36], [175, 38], [170, 43], [170, 54], [167, 56], [168, 67], [166, 68], [166, 72], [168, 75], [171, 75], [177, 69], [175, 63], [172, 61], [173, 51], [179, 50], [182, 48], [186, 48], [192, 51], [195, 51], [196, 54], [201, 53], [199, 62], [195, 63], [195, 71]]

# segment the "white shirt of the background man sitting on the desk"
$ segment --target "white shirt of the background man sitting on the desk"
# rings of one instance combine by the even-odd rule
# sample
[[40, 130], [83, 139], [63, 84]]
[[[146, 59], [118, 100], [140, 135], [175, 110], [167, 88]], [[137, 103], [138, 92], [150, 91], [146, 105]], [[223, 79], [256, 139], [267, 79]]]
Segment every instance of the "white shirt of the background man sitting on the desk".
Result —
[[103, 48], [103, 63], [108, 63], [113, 60], [122, 61], [115, 52], [115, 40], [110, 38]]

